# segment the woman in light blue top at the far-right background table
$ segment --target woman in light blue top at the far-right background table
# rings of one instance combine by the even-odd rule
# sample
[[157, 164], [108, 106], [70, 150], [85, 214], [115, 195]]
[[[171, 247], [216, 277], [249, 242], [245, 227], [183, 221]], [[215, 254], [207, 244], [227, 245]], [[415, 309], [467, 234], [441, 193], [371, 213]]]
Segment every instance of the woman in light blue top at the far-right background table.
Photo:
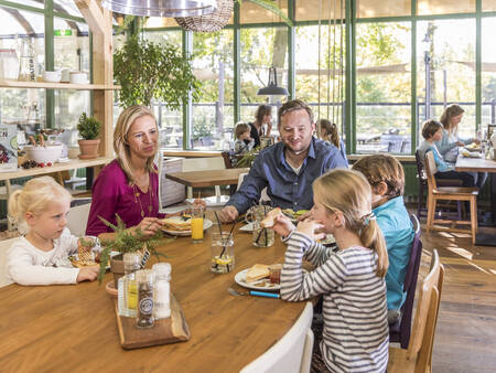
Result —
[[[448, 106], [439, 121], [443, 125], [443, 137], [435, 142], [439, 152], [444, 161], [456, 163], [459, 157], [459, 147], [464, 147], [471, 142], [481, 143], [478, 139], [462, 139], [459, 136], [459, 124], [462, 121], [465, 110], [457, 104]], [[487, 172], [467, 172], [474, 177], [475, 186], [483, 188], [487, 180]]]

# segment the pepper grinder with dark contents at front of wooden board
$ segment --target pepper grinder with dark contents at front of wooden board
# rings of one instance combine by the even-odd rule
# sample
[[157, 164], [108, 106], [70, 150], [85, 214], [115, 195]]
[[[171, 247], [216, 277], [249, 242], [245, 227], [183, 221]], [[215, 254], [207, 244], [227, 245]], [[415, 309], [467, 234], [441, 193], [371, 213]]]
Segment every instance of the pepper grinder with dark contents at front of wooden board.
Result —
[[136, 279], [138, 281], [138, 313], [136, 317], [136, 327], [139, 329], [153, 328], [153, 271], [151, 269], [138, 270], [136, 273]]

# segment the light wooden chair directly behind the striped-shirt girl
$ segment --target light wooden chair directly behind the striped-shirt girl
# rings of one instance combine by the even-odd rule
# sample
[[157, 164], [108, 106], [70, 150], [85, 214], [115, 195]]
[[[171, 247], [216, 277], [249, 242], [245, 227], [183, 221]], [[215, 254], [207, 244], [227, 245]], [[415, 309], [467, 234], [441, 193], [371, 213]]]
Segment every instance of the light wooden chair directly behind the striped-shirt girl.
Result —
[[444, 267], [433, 251], [431, 269], [422, 281], [416, 320], [408, 350], [389, 348], [388, 372], [420, 373], [432, 371], [432, 348], [439, 305], [443, 288]]

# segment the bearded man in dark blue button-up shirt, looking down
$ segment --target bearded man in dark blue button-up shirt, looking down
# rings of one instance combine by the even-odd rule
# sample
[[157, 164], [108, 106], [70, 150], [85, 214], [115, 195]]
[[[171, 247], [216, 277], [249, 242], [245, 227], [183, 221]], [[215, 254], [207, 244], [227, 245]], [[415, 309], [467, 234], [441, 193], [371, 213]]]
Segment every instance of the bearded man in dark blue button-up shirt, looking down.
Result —
[[272, 205], [310, 210], [313, 181], [331, 169], [348, 167], [336, 147], [313, 138], [313, 113], [305, 103], [294, 99], [282, 105], [278, 124], [281, 141], [257, 157], [241, 188], [220, 211], [224, 222], [258, 204], [266, 186]]

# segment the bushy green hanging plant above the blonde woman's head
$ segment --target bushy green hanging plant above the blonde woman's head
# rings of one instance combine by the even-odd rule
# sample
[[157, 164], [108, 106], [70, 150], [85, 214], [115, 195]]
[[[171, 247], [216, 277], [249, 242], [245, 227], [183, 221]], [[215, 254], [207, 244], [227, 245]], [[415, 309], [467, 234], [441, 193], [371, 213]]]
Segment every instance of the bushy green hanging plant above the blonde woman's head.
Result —
[[200, 99], [200, 81], [193, 75], [191, 58], [169, 43], [153, 43], [133, 35], [114, 54], [114, 77], [120, 85], [119, 103], [150, 106], [152, 99], [170, 109], [180, 109], [192, 94]]

